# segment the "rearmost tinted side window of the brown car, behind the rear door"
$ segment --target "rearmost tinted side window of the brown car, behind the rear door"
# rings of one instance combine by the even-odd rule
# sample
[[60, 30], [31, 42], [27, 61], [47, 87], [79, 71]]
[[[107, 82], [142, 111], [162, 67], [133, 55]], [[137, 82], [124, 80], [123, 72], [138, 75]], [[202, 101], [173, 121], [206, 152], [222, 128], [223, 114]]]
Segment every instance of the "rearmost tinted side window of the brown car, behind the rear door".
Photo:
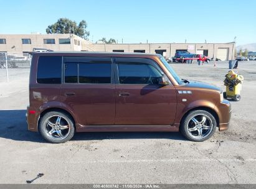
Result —
[[39, 57], [37, 83], [61, 83], [62, 57]]

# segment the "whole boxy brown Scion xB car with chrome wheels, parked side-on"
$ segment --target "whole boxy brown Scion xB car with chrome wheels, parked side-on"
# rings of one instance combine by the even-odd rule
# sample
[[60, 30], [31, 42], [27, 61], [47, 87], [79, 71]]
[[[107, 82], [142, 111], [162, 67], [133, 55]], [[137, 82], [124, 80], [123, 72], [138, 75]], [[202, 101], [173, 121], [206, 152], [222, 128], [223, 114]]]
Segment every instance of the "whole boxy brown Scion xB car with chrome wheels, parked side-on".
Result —
[[222, 90], [179, 78], [161, 55], [32, 53], [27, 124], [52, 143], [76, 132], [181, 131], [191, 141], [229, 127]]

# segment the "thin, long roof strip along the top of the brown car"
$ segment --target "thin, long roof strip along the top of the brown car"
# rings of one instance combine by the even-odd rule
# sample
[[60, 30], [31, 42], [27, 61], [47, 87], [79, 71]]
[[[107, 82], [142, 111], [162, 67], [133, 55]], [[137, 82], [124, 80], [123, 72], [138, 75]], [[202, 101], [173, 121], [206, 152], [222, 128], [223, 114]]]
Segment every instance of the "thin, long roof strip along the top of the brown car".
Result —
[[85, 56], [108, 56], [108, 57], [121, 57], [122, 55], [126, 55], [127, 57], [149, 57], [149, 56], [157, 56], [162, 57], [159, 54], [154, 53], [125, 53], [125, 52], [80, 52], [80, 51], [54, 51], [54, 52], [29, 52], [31, 55], [85, 55]]

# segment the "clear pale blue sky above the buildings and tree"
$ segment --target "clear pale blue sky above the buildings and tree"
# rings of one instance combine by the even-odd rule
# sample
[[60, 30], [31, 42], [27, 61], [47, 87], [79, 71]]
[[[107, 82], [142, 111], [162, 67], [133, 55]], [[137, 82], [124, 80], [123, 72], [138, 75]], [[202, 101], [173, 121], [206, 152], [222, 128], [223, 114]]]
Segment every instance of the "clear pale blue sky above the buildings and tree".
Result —
[[45, 34], [60, 17], [87, 21], [90, 40], [256, 42], [255, 0], [0, 0], [0, 34]]

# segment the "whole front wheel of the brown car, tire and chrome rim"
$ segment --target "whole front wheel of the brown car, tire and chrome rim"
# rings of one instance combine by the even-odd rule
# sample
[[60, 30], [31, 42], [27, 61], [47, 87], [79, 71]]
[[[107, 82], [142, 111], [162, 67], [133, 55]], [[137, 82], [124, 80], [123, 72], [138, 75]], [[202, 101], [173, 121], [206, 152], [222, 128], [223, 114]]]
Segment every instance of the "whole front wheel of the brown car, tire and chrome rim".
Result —
[[195, 110], [183, 119], [180, 131], [189, 141], [202, 142], [214, 134], [216, 126], [217, 121], [211, 113], [204, 110]]

